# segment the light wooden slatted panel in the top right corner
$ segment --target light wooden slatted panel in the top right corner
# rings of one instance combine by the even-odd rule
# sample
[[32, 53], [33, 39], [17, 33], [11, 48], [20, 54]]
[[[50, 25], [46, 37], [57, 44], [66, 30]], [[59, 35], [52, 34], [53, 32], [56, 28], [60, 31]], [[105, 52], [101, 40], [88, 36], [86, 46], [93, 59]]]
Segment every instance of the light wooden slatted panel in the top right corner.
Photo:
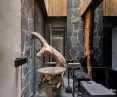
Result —
[[103, 1], [104, 16], [117, 16], [117, 0]]

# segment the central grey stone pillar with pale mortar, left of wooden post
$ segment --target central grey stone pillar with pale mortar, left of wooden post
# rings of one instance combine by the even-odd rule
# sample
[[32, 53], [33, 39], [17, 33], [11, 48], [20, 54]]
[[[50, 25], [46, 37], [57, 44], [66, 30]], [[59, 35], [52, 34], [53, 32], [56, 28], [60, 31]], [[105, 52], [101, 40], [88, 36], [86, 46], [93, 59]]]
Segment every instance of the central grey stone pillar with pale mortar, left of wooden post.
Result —
[[77, 61], [84, 54], [83, 20], [79, 6], [80, 0], [68, 0], [67, 57]]

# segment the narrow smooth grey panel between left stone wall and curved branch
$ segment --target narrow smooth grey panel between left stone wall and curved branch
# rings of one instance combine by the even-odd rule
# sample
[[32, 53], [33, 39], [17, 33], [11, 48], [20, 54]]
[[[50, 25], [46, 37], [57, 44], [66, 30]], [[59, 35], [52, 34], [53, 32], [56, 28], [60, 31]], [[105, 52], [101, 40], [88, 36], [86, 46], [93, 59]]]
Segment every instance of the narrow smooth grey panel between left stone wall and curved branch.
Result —
[[[35, 22], [35, 31], [40, 33], [43, 36], [43, 27], [44, 27], [44, 17], [43, 13], [38, 5], [38, 2], [35, 1], [35, 12], [34, 12], [34, 22]], [[36, 53], [36, 50], [40, 49], [41, 44], [37, 39], [34, 39], [34, 52]], [[37, 71], [40, 67], [42, 67], [43, 64], [43, 59], [42, 57], [37, 58], [34, 57], [34, 79], [35, 79], [35, 90], [38, 88], [38, 84], [40, 82], [40, 73]]]

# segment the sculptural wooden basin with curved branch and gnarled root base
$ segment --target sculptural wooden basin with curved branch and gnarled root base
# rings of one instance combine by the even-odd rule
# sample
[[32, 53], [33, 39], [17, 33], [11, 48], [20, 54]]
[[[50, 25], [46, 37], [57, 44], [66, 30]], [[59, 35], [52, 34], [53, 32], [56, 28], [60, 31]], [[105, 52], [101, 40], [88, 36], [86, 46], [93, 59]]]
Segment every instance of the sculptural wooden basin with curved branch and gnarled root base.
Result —
[[56, 67], [45, 67], [38, 70], [41, 73], [38, 92], [46, 91], [48, 97], [53, 97], [53, 89], [63, 86], [63, 75], [67, 68], [67, 62], [64, 56], [50, 46], [41, 34], [37, 32], [32, 32], [31, 34], [33, 38], [37, 38], [42, 44], [41, 49], [36, 53], [36, 57], [50, 55], [56, 60]]

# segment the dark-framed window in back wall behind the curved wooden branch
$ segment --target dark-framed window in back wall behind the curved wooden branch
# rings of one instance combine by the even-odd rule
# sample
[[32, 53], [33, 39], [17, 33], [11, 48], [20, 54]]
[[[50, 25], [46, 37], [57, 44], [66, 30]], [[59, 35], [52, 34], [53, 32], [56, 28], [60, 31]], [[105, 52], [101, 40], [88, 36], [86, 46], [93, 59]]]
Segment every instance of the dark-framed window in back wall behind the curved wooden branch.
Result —
[[[50, 45], [65, 55], [65, 27], [51, 27]], [[51, 56], [49, 61], [55, 62]]]

